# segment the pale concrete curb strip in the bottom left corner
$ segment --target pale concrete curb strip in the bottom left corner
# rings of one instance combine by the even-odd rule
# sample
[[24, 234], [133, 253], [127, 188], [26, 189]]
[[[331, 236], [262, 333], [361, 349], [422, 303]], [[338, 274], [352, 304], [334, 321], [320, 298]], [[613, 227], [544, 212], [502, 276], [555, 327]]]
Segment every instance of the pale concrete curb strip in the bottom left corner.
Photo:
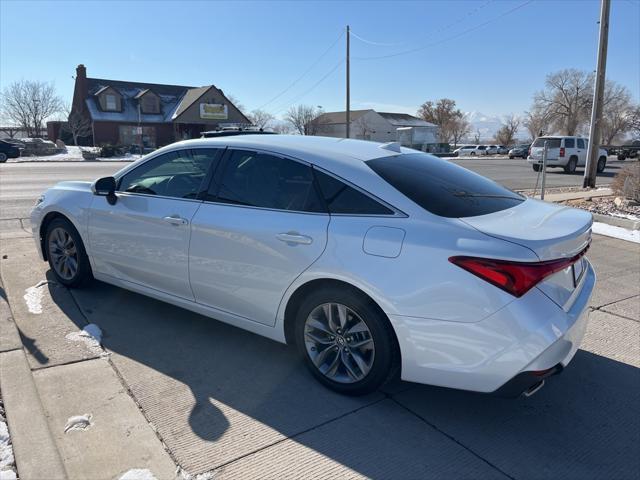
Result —
[[[5, 303], [5, 300], [0, 298], [0, 302]], [[2, 326], [3, 329], [14, 330], [10, 332], [11, 337], [19, 338], [18, 328], [13, 319], [3, 322]], [[0, 353], [0, 378], [2, 399], [20, 479], [65, 480], [67, 472], [49, 430], [40, 395], [21, 343], [13, 350]]]

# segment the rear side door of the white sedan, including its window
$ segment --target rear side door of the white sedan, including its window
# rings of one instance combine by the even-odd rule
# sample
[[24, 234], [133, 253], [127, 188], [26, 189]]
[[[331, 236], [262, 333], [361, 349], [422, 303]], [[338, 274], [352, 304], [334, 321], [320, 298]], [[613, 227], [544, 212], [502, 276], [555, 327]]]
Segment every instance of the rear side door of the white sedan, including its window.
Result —
[[192, 221], [196, 302], [273, 325], [286, 289], [324, 251], [329, 218], [310, 165], [227, 150]]

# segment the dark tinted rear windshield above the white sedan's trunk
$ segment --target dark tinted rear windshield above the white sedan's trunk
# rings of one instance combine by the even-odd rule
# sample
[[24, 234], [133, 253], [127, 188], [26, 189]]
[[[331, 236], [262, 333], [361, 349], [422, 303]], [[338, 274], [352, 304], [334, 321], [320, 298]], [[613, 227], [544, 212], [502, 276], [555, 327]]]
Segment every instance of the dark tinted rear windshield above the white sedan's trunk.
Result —
[[367, 162], [389, 184], [441, 217], [475, 217], [515, 207], [524, 197], [454, 163], [424, 153]]

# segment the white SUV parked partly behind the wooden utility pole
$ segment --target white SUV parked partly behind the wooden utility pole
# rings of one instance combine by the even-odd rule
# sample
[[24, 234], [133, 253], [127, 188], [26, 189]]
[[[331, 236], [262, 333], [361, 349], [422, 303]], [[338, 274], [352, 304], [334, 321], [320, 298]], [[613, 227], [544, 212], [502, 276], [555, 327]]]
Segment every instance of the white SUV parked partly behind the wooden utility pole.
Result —
[[[538, 172], [542, 165], [542, 152], [547, 142], [547, 166], [562, 167], [565, 173], [574, 173], [576, 167], [583, 167], [587, 162], [589, 139], [569, 136], [538, 137], [531, 145], [528, 162], [533, 170]], [[598, 149], [598, 173], [604, 171], [607, 165], [607, 151]]]

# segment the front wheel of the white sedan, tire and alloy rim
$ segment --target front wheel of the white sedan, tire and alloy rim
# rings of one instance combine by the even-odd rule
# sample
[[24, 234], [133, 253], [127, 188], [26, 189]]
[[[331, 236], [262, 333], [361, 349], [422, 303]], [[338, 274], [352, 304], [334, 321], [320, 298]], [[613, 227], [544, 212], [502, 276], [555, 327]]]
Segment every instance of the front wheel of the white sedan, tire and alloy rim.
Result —
[[79, 288], [91, 281], [93, 275], [84, 243], [69, 220], [52, 220], [44, 238], [49, 266], [59, 283]]

